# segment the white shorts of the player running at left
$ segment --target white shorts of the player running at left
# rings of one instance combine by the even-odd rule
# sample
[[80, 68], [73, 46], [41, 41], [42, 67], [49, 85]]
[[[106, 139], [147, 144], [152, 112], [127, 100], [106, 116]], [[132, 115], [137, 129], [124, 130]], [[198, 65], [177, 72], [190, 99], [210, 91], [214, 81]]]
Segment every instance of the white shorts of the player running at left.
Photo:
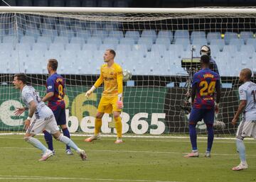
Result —
[[47, 118], [36, 119], [32, 118], [31, 125], [29, 125], [27, 133], [36, 135], [43, 130], [47, 130], [51, 134], [54, 134], [59, 131], [59, 127], [56, 123], [54, 115], [50, 115]]

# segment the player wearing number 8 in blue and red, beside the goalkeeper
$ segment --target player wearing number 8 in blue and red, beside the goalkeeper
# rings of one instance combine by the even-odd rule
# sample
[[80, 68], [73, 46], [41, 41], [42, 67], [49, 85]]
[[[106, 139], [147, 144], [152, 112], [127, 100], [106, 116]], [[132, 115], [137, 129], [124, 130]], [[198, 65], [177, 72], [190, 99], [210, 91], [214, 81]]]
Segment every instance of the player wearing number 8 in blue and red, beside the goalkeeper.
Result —
[[[50, 76], [46, 81], [47, 93], [46, 96], [43, 97], [43, 102], [48, 101], [48, 107], [53, 110], [57, 124], [60, 125], [61, 130], [63, 130], [63, 135], [70, 138], [65, 116], [65, 81], [60, 74], [57, 74], [57, 68], [58, 61], [56, 59], [49, 59], [47, 69]], [[48, 144], [48, 148], [53, 150], [53, 138], [50, 133], [44, 130], [43, 134], [45, 136], [46, 143]], [[68, 145], [66, 146], [66, 154], [73, 154]]]

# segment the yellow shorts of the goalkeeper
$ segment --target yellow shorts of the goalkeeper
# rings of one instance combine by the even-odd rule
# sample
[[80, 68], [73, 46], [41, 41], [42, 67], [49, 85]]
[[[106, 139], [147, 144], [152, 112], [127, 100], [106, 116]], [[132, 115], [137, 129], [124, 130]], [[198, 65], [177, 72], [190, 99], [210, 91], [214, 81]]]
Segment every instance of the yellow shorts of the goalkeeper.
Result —
[[122, 112], [122, 109], [117, 108], [117, 101], [118, 101], [117, 96], [114, 96], [114, 97], [102, 96], [102, 98], [100, 99], [100, 103], [97, 108], [97, 111], [100, 113], [108, 113], [108, 114], [112, 113], [113, 111]]

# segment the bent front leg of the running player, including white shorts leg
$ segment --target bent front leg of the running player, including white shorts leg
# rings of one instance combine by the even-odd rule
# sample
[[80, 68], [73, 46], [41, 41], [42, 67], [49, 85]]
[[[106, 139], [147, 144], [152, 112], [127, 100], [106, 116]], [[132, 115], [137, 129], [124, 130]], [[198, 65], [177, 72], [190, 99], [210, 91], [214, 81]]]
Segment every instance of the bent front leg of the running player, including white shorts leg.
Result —
[[26, 131], [26, 135], [24, 137], [24, 140], [26, 142], [32, 144], [34, 147], [40, 149], [43, 152], [42, 158], [39, 159], [40, 161], [45, 161], [49, 157], [53, 156], [53, 152], [51, 150], [47, 149], [38, 139], [33, 137], [39, 132], [42, 132], [45, 126], [46, 123], [44, 122], [44, 119], [34, 119], [31, 125], [28, 127], [28, 130]]

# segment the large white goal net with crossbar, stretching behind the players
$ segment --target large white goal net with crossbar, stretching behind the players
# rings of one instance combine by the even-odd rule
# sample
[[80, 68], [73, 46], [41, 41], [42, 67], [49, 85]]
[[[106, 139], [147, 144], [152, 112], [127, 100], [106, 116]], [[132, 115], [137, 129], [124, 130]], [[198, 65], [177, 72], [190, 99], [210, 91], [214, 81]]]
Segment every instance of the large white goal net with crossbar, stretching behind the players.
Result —
[[[137, 11], [135, 11], [137, 10]], [[132, 72], [124, 82], [123, 133], [186, 134], [189, 112], [183, 109], [189, 88], [188, 68], [202, 45], [208, 45], [222, 81], [220, 112], [215, 133], [234, 134], [231, 120], [238, 108], [238, 74], [256, 71], [254, 8], [7, 8], [0, 13], [0, 130], [22, 132], [28, 113], [15, 116], [22, 106], [12, 85], [15, 73], [46, 93], [49, 58], [59, 62], [66, 81], [66, 115], [70, 132], [92, 133], [102, 87], [85, 98], [95, 83], [106, 49], [115, 62]], [[231, 11], [232, 10], [232, 11]], [[116, 13], [115, 13], [116, 12]], [[196, 47], [191, 50], [191, 47]], [[193, 58], [192, 58], [193, 57]], [[115, 132], [103, 118], [102, 132]], [[206, 133], [203, 121], [197, 125]]]

